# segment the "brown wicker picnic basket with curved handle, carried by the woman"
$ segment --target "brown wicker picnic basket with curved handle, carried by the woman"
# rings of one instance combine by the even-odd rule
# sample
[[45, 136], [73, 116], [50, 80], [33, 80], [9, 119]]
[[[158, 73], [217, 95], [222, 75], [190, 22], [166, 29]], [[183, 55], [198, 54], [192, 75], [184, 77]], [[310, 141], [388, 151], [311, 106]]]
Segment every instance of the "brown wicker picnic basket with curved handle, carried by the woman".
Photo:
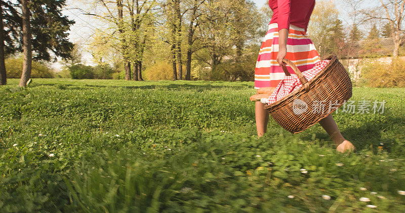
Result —
[[[352, 86], [346, 69], [336, 56], [326, 60], [331, 61], [309, 82], [290, 60], [283, 60], [304, 86], [264, 107], [282, 128], [291, 133], [302, 132], [335, 112], [351, 97]], [[290, 75], [286, 67], [283, 69]]]

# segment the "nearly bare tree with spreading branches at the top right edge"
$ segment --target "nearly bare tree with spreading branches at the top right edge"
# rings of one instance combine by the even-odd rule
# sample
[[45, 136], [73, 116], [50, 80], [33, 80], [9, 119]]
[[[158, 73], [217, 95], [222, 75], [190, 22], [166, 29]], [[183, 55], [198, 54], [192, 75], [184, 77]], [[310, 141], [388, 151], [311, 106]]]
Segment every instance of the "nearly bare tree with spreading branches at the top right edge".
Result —
[[[403, 0], [380, 0], [381, 6], [368, 10], [362, 10], [362, 14], [367, 17], [367, 20], [388, 21], [391, 25], [391, 37], [394, 41], [392, 56], [398, 57], [400, 45], [405, 41], [405, 33], [403, 29], [403, 19], [405, 18], [405, 1]], [[383, 12], [381, 11], [383, 8]]]

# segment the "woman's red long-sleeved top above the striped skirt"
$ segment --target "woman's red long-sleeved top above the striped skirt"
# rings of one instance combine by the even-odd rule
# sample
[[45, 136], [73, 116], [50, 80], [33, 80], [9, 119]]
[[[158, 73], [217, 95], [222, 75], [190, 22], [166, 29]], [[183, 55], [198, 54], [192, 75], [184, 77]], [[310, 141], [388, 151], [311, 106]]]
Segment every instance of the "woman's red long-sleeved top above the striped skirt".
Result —
[[278, 24], [278, 30], [290, 29], [290, 24], [304, 28], [307, 31], [315, 0], [269, 0], [273, 11], [271, 23]]

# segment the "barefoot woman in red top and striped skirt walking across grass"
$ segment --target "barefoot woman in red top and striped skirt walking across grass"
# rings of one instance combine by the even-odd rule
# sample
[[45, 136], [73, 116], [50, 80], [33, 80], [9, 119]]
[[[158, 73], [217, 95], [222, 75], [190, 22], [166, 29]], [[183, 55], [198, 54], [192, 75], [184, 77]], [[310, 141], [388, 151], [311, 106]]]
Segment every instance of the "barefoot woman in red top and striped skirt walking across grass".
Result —
[[[259, 51], [255, 69], [255, 89], [258, 90], [251, 100], [269, 97], [284, 79], [281, 65], [285, 63], [282, 59], [291, 60], [302, 72], [320, 61], [315, 46], [306, 36], [314, 5], [315, 0], [269, 0], [273, 16]], [[290, 67], [288, 70], [294, 74]], [[260, 101], [256, 101], [255, 108], [257, 134], [261, 137], [266, 132], [269, 115]], [[342, 136], [331, 115], [319, 121], [319, 124], [331, 136], [338, 151], [354, 150], [353, 144]]]

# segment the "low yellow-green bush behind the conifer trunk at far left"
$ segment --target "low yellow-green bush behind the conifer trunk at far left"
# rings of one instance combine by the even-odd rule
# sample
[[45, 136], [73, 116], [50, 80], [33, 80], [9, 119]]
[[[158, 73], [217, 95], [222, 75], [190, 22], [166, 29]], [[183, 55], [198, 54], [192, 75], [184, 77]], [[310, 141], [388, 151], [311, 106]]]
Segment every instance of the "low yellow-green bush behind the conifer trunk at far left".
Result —
[[[23, 58], [10, 57], [5, 60], [7, 78], [21, 78]], [[44, 62], [32, 61], [31, 78], [54, 78], [52, 69]]]

